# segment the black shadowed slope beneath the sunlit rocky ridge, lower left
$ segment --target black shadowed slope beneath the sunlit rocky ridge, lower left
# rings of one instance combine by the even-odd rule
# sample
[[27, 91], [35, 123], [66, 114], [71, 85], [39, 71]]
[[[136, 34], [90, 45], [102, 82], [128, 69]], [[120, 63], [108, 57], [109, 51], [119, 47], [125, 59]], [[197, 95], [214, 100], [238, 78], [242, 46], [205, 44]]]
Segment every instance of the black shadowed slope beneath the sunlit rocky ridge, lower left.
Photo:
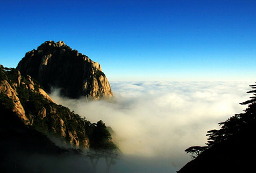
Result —
[[59, 148], [1, 101], [0, 112], [0, 172], [91, 172], [77, 150]]

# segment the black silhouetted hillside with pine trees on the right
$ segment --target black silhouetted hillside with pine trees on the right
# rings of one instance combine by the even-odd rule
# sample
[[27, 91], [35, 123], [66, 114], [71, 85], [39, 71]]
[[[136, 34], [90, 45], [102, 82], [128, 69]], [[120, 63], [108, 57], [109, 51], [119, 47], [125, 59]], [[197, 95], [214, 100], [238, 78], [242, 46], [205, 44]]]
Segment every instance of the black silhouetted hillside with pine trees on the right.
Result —
[[[256, 85], [252, 85], [253, 89]], [[256, 95], [256, 90], [249, 93]], [[185, 150], [195, 158], [179, 173], [186, 172], [255, 172], [256, 96], [243, 102], [245, 112], [219, 123], [219, 130], [209, 130], [207, 146]]]

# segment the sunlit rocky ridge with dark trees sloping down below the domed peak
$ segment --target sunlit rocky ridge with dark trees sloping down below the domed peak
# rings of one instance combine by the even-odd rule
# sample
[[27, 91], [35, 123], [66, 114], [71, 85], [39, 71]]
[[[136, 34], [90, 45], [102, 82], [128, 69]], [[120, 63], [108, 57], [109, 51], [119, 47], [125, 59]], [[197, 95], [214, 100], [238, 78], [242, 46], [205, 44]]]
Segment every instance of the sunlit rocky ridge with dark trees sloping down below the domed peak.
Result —
[[0, 66], [0, 106], [14, 112], [26, 126], [71, 147], [116, 148], [102, 121], [91, 123], [55, 104], [35, 79], [23, 77], [17, 69]]

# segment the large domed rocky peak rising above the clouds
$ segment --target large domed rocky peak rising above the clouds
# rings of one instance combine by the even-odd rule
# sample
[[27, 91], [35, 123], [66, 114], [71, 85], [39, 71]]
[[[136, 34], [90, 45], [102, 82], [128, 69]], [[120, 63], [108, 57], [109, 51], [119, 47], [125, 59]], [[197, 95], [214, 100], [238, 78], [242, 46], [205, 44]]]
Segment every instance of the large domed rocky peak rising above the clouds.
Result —
[[52, 87], [61, 88], [63, 96], [93, 100], [113, 95], [101, 65], [63, 41], [46, 41], [37, 50], [29, 51], [17, 69], [21, 75], [36, 79], [46, 92], [51, 92]]

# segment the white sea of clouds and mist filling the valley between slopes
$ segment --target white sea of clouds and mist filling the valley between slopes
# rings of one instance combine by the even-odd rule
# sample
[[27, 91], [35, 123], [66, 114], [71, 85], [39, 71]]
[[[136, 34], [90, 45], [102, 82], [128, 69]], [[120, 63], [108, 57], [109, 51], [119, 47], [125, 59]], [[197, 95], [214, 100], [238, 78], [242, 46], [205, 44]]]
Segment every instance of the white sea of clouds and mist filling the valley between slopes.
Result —
[[112, 82], [110, 101], [51, 98], [91, 122], [103, 120], [115, 131], [123, 159], [113, 172], [176, 172], [191, 156], [184, 150], [204, 146], [208, 130], [219, 129], [243, 112], [248, 82]]

